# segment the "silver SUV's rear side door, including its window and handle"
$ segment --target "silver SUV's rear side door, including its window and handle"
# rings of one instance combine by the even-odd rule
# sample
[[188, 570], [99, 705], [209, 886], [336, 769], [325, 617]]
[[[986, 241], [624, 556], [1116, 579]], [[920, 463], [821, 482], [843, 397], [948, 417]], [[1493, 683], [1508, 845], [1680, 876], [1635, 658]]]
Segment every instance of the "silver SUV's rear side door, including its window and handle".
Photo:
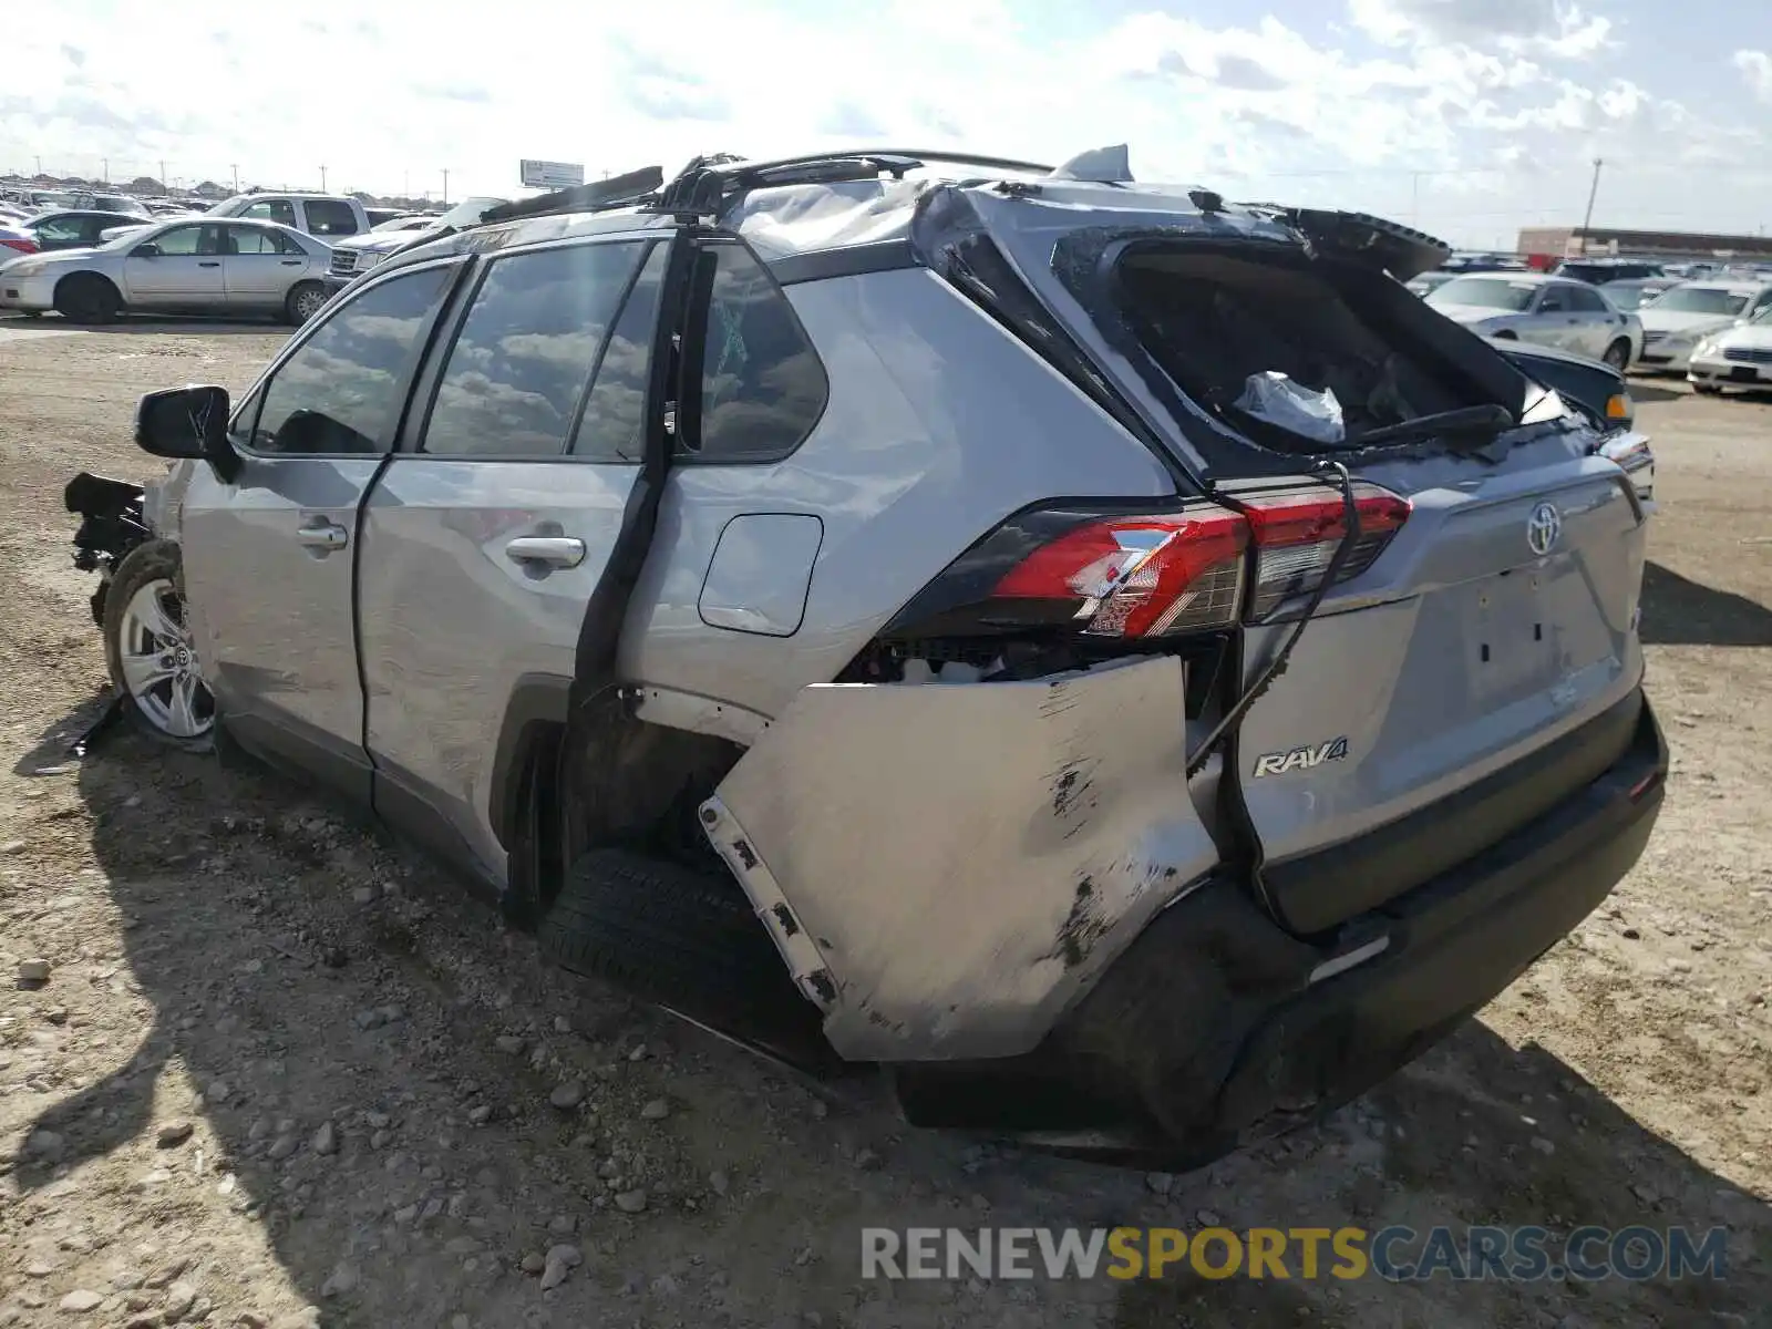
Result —
[[484, 262], [363, 512], [376, 806], [503, 882], [500, 734], [563, 693], [641, 459], [672, 234]]

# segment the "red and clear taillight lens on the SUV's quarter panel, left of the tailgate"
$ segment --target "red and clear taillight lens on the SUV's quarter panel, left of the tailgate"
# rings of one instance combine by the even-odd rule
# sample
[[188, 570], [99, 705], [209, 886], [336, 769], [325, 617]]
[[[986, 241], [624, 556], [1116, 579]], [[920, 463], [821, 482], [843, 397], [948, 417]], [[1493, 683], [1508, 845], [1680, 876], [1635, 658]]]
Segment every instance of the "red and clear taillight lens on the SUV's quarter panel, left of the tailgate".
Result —
[[1203, 503], [1102, 517], [1040, 546], [998, 581], [994, 601], [1074, 601], [1090, 636], [1173, 636], [1237, 622], [1249, 528]]

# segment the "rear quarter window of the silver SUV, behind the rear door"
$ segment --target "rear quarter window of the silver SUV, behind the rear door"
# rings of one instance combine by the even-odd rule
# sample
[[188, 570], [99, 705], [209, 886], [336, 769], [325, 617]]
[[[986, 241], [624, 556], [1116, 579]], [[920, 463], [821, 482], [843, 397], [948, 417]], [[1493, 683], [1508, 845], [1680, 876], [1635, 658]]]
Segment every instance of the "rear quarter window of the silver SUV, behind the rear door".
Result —
[[705, 461], [778, 461], [812, 432], [829, 385], [781, 287], [742, 245], [716, 245], [702, 346], [700, 429], [686, 438]]

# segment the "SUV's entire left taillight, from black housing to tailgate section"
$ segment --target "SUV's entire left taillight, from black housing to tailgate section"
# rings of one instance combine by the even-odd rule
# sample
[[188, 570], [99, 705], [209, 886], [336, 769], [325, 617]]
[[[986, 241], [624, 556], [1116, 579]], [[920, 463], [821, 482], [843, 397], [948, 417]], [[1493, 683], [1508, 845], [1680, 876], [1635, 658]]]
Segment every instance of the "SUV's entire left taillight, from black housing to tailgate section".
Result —
[[[1322, 585], [1347, 533], [1329, 486], [1237, 494], [1240, 510], [1191, 503], [1136, 516], [1022, 512], [957, 558], [913, 599], [888, 636], [1054, 631], [1097, 641], [1170, 638], [1260, 620]], [[1354, 486], [1359, 539], [1340, 579], [1379, 556], [1409, 503]]]

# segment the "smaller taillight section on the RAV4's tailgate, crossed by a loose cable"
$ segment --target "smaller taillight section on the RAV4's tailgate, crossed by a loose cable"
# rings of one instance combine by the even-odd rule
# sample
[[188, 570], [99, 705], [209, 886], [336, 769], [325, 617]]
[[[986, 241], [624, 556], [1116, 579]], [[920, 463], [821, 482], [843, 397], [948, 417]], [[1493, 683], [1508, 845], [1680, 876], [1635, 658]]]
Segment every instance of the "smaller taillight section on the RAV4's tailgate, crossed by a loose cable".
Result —
[[[1249, 617], [1260, 622], [1294, 595], [1322, 585], [1341, 537], [1347, 535], [1347, 500], [1340, 491], [1311, 486], [1302, 491], [1239, 500], [1255, 537], [1255, 590]], [[1354, 486], [1359, 539], [1341, 563], [1338, 579], [1359, 576], [1409, 521], [1409, 501], [1375, 484]]]

